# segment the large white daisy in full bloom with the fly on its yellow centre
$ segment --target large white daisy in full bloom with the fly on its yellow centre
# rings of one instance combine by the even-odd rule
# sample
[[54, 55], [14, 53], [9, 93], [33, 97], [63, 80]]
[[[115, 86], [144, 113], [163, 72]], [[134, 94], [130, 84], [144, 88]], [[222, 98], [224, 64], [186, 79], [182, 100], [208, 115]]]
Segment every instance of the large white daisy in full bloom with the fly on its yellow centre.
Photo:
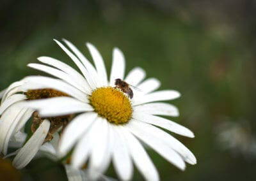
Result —
[[[27, 106], [38, 110], [41, 117], [80, 113], [72, 119], [61, 135], [58, 148], [60, 156], [67, 155], [74, 148], [72, 166], [81, 168], [89, 160], [88, 171], [91, 179], [97, 179], [97, 173], [104, 173], [112, 160], [118, 177], [122, 180], [131, 180], [132, 162], [146, 180], [159, 180], [156, 167], [141, 141], [180, 170], [185, 169], [185, 162], [196, 164], [196, 158], [188, 148], [171, 134], [158, 128], [194, 137], [186, 127], [158, 116], [179, 115], [175, 106], [158, 102], [179, 98], [179, 92], [156, 91], [160, 86], [159, 80], [143, 80], [145, 71], [141, 68], [134, 68], [124, 76], [125, 59], [118, 48], [113, 50], [113, 64], [108, 80], [104, 61], [93, 45], [86, 43], [95, 67], [69, 41], [63, 40], [67, 47], [55, 41], [74, 61], [82, 75], [56, 59], [39, 57], [38, 60], [48, 66], [28, 66], [59, 79], [29, 76], [25, 80], [35, 85], [33, 89], [51, 88], [70, 96], [28, 101]], [[134, 92], [132, 98], [131, 90], [122, 87], [124, 82], [120, 84], [116, 79], [124, 80], [142, 92], [130, 87]]]

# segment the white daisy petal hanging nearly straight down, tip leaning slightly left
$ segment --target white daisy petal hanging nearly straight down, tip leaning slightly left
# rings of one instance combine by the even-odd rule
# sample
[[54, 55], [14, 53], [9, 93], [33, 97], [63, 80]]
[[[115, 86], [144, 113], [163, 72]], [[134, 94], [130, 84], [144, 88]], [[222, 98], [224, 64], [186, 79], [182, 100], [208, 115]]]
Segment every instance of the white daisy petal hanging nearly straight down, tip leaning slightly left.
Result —
[[97, 131], [93, 133], [93, 147], [91, 150], [90, 164], [88, 168], [90, 178], [92, 178], [92, 180], [96, 180], [102, 173], [104, 173], [104, 171], [106, 171], [110, 161], [108, 147], [109, 123], [102, 117], [98, 117], [96, 121], [100, 122], [100, 124], [97, 127]]

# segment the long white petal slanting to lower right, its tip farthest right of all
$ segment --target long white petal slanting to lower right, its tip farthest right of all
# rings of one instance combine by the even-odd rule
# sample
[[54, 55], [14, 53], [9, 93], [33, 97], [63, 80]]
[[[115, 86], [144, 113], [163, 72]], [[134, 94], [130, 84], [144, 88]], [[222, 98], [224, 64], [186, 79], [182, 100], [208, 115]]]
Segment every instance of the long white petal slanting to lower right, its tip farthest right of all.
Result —
[[152, 136], [159, 138], [159, 140], [163, 140], [167, 145], [172, 147], [173, 150], [178, 152], [180, 156], [183, 157], [184, 161], [189, 164], [196, 164], [196, 158], [193, 153], [171, 134], [147, 123], [136, 122], [136, 124], [140, 125], [145, 133], [151, 134]]

